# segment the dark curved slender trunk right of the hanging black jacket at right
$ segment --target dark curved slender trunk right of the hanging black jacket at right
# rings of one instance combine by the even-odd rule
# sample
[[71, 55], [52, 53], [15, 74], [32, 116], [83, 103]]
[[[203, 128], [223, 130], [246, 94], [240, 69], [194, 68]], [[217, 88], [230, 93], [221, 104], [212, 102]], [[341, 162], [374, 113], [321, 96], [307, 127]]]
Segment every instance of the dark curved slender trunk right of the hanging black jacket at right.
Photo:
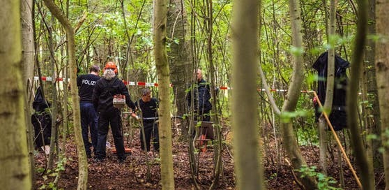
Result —
[[347, 125], [351, 133], [351, 144], [353, 145], [356, 163], [360, 169], [360, 178], [363, 189], [374, 189], [374, 176], [369, 176], [369, 164], [365, 147], [363, 145], [362, 133], [358, 125], [358, 87], [363, 65], [363, 52], [365, 49], [367, 35], [367, 3], [365, 0], [358, 0], [358, 24], [355, 49], [353, 50], [353, 63], [350, 71], [350, 84], [346, 96]]

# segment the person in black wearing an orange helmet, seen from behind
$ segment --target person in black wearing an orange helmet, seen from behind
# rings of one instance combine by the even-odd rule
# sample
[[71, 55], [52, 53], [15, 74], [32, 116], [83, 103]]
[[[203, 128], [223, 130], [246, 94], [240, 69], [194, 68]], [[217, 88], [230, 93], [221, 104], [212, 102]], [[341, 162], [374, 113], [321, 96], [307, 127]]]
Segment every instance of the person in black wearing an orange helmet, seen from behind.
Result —
[[111, 126], [112, 136], [116, 147], [119, 162], [125, 161], [123, 133], [121, 126], [121, 110], [113, 104], [114, 95], [125, 96], [125, 104], [135, 110], [130, 94], [124, 83], [116, 77], [117, 67], [112, 61], [105, 65], [102, 78], [98, 80], [93, 89], [93, 105], [98, 111], [98, 143], [96, 161], [105, 159], [105, 142], [107, 141], [108, 126]]

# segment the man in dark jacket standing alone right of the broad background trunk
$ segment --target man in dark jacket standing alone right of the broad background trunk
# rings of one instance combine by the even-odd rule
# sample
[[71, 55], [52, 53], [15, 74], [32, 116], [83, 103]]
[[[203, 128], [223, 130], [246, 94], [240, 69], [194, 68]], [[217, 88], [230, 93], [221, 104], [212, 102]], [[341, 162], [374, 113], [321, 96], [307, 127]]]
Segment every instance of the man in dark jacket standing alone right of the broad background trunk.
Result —
[[194, 72], [196, 75], [196, 82], [194, 86], [190, 87], [190, 92], [186, 96], [188, 102], [188, 107], [191, 108], [192, 105], [192, 94], [193, 94], [193, 110], [195, 120], [209, 122], [211, 121], [211, 116], [209, 112], [212, 109], [211, 101], [211, 91], [209, 84], [203, 79], [203, 75], [200, 69], [197, 69]]

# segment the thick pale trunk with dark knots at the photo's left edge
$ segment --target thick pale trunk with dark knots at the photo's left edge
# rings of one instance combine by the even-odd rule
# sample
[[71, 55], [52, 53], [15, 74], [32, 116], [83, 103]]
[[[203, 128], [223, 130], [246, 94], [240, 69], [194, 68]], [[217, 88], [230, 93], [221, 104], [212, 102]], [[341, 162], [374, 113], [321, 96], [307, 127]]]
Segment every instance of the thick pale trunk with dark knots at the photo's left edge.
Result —
[[24, 115], [20, 1], [3, 1], [0, 6], [0, 187], [31, 189], [31, 172]]

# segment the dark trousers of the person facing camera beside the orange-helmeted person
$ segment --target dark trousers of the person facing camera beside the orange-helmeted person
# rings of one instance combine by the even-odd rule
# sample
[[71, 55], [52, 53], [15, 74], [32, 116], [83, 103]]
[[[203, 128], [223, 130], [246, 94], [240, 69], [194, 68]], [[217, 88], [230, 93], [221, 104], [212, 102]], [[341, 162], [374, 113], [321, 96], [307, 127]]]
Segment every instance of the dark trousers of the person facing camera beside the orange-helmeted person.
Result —
[[[153, 137], [153, 147], [156, 152], [160, 151], [160, 142], [158, 136], [158, 124], [155, 122], [143, 122], [144, 137], [146, 138], [146, 148], [150, 151], [150, 140]], [[144, 150], [143, 133], [140, 133], [141, 148]]]

